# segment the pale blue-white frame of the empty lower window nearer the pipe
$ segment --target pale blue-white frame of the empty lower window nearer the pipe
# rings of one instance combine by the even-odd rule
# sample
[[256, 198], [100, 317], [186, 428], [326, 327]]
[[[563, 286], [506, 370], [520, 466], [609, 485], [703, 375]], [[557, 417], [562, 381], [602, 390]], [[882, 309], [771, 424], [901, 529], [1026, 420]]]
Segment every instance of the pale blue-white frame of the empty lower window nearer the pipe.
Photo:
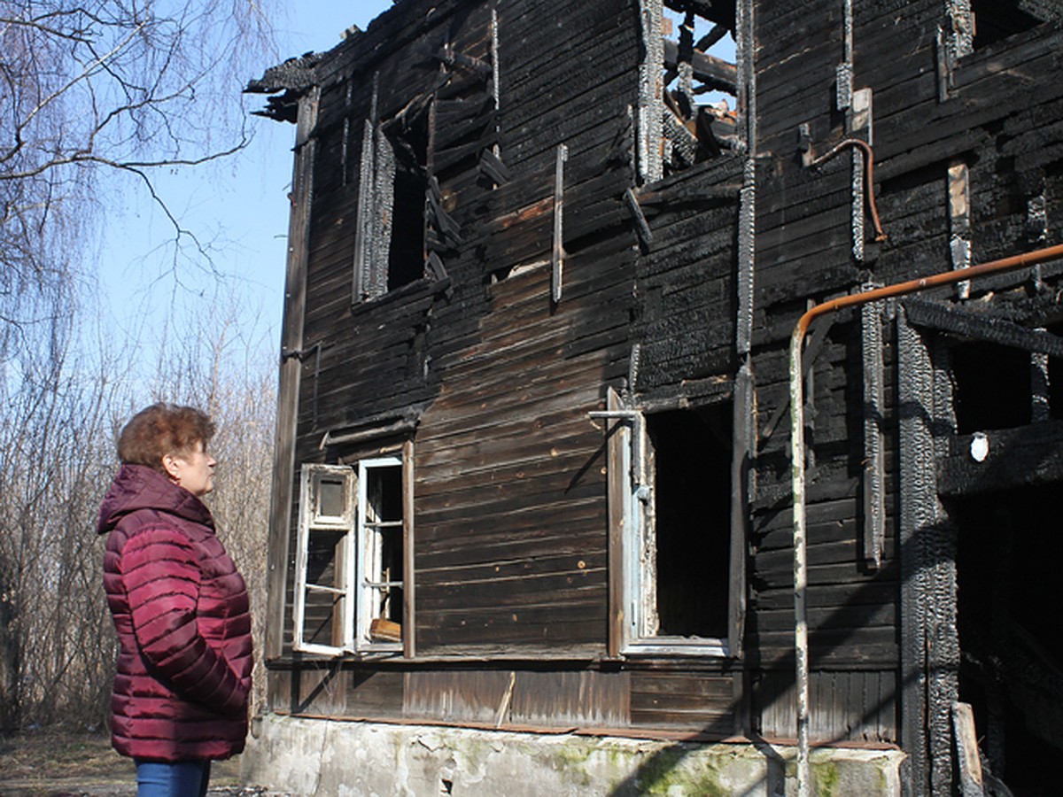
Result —
[[[613, 392], [613, 391], [610, 391]], [[622, 507], [621, 547], [622, 574], [620, 584], [622, 656], [707, 656], [729, 657], [727, 637], [678, 637], [657, 633], [657, 565], [654, 523], [654, 488], [649, 457], [652, 444], [646, 434], [644, 413], [637, 408], [622, 407], [613, 392], [610, 410], [592, 416], [610, 419], [610, 445], [617, 456], [610, 458], [623, 470], [625, 477], [610, 479], [620, 487], [611, 495]], [[725, 521], [730, 523], [728, 516]], [[731, 535], [731, 545], [735, 544]], [[728, 569], [728, 577], [735, 574]], [[728, 589], [728, 600], [730, 590]], [[728, 607], [728, 616], [730, 611]]]

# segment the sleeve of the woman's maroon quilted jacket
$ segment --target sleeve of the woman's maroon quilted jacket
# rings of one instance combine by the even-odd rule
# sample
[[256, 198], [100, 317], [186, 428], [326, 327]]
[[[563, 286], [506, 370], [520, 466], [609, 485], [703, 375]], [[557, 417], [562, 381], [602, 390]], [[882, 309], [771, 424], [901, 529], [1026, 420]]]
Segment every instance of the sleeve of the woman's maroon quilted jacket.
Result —
[[122, 581], [141, 654], [185, 699], [224, 714], [244, 709], [247, 689], [199, 632], [200, 566], [184, 535], [145, 529], [121, 555]]

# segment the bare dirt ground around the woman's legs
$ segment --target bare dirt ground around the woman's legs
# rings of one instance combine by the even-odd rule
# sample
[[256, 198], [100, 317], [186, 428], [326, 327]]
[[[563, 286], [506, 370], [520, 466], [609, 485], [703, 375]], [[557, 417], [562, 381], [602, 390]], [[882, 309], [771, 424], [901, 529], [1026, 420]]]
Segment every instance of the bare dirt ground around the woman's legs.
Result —
[[[239, 758], [210, 768], [212, 795], [258, 795], [239, 785]], [[2, 797], [135, 797], [133, 762], [100, 734], [31, 733], [0, 739]]]

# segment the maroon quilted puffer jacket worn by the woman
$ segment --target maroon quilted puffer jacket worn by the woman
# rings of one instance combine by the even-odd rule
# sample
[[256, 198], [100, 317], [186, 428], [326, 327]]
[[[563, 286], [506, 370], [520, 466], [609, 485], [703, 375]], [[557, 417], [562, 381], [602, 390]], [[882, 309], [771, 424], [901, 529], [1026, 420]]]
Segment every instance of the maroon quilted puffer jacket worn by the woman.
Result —
[[124, 464], [100, 507], [118, 630], [111, 698], [118, 752], [154, 761], [226, 759], [243, 749], [251, 689], [248, 592], [184, 488]]

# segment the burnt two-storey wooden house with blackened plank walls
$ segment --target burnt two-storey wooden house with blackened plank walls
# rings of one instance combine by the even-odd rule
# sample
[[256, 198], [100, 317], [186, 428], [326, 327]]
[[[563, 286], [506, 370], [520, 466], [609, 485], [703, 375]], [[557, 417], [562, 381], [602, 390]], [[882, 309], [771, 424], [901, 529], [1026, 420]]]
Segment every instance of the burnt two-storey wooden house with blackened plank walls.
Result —
[[[270, 711], [741, 744], [804, 692], [948, 794], [961, 701], [1047, 793], [1061, 17], [402, 0], [253, 82], [297, 125]], [[816, 322], [792, 416], [810, 307], [1029, 253]]]

